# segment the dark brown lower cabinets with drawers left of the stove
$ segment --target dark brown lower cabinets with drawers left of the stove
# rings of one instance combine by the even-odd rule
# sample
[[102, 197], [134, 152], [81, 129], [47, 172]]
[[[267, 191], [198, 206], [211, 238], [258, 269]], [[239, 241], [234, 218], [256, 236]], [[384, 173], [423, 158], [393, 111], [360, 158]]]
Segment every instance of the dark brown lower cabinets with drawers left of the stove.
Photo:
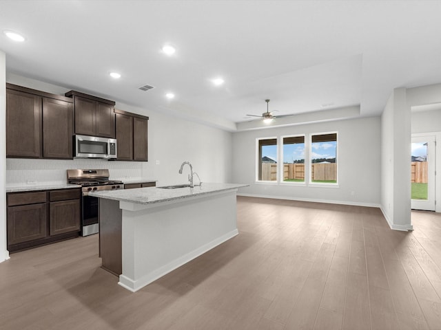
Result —
[[79, 236], [80, 188], [10, 192], [7, 201], [9, 252]]

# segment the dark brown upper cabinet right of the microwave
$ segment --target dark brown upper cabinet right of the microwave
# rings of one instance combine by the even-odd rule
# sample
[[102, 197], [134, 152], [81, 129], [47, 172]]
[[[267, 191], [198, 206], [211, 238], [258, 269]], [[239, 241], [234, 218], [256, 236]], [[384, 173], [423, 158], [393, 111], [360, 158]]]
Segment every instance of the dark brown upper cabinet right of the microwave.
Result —
[[149, 118], [115, 109], [116, 114], [116, 143], [118, 158], [147, 162], [148, 160], [148, 130]]

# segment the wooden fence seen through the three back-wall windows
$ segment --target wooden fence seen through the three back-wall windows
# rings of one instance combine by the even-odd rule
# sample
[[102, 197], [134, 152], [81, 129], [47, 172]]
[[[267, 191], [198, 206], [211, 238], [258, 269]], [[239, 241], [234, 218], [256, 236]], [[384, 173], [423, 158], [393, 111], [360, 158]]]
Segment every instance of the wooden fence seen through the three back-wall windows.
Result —
[[[313, 180], [336, 180], [337, 164], [311, 164], [311, 177]], [[283, 164], [283, 179], [305, 179], [305, 164]], [[277, 164], [262, 163], [262, 180], [277, 180]]]

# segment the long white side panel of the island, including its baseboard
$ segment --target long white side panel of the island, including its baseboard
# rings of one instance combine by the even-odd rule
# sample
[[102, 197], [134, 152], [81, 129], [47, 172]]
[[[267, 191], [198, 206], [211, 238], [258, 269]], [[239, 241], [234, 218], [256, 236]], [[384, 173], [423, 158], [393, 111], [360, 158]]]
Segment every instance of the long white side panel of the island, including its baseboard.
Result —
[[135, 292], [238, 234], [236, 190], [123, 210], [123, 274]]

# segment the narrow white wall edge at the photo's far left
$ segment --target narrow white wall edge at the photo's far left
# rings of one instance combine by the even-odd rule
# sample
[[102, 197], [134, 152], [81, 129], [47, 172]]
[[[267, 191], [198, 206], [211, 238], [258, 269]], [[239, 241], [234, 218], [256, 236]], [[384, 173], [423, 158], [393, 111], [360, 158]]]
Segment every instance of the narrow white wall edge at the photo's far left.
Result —
[[0, 263], [6, 250], [6, 55], [0, 51]]

